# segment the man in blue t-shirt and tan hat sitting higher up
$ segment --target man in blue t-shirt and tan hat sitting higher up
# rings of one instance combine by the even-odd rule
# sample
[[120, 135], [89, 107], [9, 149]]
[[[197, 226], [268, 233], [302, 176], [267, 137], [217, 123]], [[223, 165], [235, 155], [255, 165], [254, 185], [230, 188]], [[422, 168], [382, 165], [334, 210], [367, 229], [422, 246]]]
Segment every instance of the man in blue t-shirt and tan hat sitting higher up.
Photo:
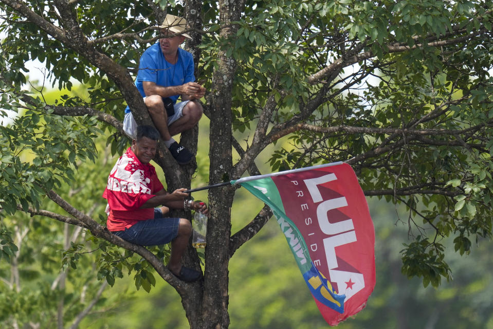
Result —
[[[159, 26], [161, 39], [144, 51], [140, 58], [135, 85], [149, 114], [159, 131], [162, 141], [180, 165], [189, 163], [193, 154], [178, 144], [172, 136], [191, 129], [202, 116], [206, 89], [195, 81], [192, 54], [179, 46], [190, 35], [183, 33], [187, 21], [174, 15], [166, 15]], [[181, 96], [181, 102], [176, 103]], [[127, 106], [123, 130], [135, 138], [137, 124]]]

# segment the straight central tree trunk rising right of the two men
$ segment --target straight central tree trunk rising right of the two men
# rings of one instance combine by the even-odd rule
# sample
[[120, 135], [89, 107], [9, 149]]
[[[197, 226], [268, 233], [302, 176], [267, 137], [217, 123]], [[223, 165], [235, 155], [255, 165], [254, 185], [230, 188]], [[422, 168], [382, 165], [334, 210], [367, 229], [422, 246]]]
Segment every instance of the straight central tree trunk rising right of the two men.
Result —
[[[224, 38], [234, 35], [239, 20], [241, 2], [220, 1], [220, 32]], [[210, 104], [210, 184], [229, 180], [232, 169], [231, 90], [236, 63], [226, 57], [226, 49], [218, 51], [218, 67], [213, 74]], [[229, 237], [231, 235], [231, 205], [234, 189], [231, 186], [209, 190], [211, 218], [208, 224], [205, 281], [203, 288], [202, 328], [227, 328]]]

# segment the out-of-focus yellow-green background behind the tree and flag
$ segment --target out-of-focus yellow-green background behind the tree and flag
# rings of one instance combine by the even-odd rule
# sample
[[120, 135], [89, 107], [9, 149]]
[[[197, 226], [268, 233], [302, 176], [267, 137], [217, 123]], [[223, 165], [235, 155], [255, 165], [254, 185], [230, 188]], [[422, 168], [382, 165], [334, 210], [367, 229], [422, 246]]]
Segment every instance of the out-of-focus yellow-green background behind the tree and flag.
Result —
[[[73, 92], [80, 92], [83, 96], [84, 90], [79, 87]], [[50, 99], [59, 97], [59, 92], [45, 93], [44, 96], [47, 102], [50, 102]], [[192, 181], [192, 188], [208, 184], [208, 129], [209, 121], [204, 117], [200, 120], [198, 169]], [[108, 156], [109, 153], [104, 142], [106, 137], [101, 136], [97, 142], [101, 158]], [[246, 135], [236, 137], [239, 140], [248, 138]], [[286, 143], [285, 140], [281, 140], [276, 147], [286, 148], [289, 146]], [[266, 162], [272, 151], [272, 149], [266, 150], [262, 157], [257, 159], [257, 166], [262, 173], [270, 172]], [[84, 190], [84, 193], [91, 195], [90, 200], [84, 200], [85, 203], [103, 203], [104, 200], [100, 195], [106, 185], [109, 169], [113, 167], [118, 156], [115, 155], [104, 163], [103, 160], [101, 163], [98, 161], [96, 171], [94, 163], [81, 164], [79, 175], [87, 175], [92, 177], [90, 179], [96, 180], [90, 182]], [[162, 171], [157, 169], [158, 174], [163, 178]], [[96, 176], [98, 178], [94, 178]], [[162, 180], [164, 182], [164, 179]], [[196, 192], [193, 196], [195, 199], [207, 202], [207, 191]], [[338, 327], [342, 329], [493, 329], [491, 242], [477, 241], [473, 244], [471, 253], [461, 257], [459, 253], [454, 252], [452, 241], [444, 241], [443, 243], [448, 247], [446, 261], [450, 265], [454, 280], [442, 282], [438, 289], [431, 286], [424, 288], [419, 278], [408, 279], [400, 272], [399, 251], [404, 248], [404, 243], [410, 242], [409, 214], [404, 208], [396, 208], [385, 200], [377, 198], [367, 200], [375, 225], [376, 286], [366, 308]], [[238, 189], [231, 209], [232, 233], [247, 224], [262, 206], [263, 204], [248, 191], [243, 188]], [[97, 218], [97, 216], [98, 214], [93, 214], [93, 217]], [[46, 221], [53, 231], [49, 234], [63, 231], [61, 223]], [[416, 232], [411, 233], [416, 234]], [[60, 258], [56, 255], [56, 259], [52, 260], [56, 263], [53, 266], [57, 271], [62, 258], [62, 251], [58, 252]], [[4, 270], [8, 269], [4, 267]], [[90, 268], [78, 268], [72, 273], [90, 270]], [[79, 273], [82, 275], [82, 272]], [[45, 273], [49, 278], [57, 274]], [[123, 279], [116, 280], [112, 288], [106, 288], [103, 299], [98, 302], [101, 307], [95, 308], [94, 312], [86, 316], [79, 327], [188, 328], [178, 294], [157, 275], [155, 277], [156, 286], [147, 293], [143, 289], [137, 291], [133, 278], [129, 278], [124, 273]], [[44, 280], [44, 277], [41, 279]], [[233, 255], [229, 263], [229, 287], [230, 328], [329, 327], [306, 287], [279, 225], [273, 219]]]

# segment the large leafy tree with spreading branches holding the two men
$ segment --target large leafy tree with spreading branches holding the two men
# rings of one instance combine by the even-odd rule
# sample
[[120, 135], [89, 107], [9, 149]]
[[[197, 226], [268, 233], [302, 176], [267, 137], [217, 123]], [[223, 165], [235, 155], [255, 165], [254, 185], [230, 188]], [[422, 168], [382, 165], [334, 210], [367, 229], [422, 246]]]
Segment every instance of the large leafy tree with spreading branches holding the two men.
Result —
[[[408, 207], [414, 239], [402, 270], [437, 286], [451, 278], [443, 237], [464, 254], [491, 235], [490, 8], [490, 1], [0, 0], [1, 107], [25, 111], [1, 128], [0, 216], [30, 212], [88, 229], [110, 250], [97, 262], [99, 279], [113, 284], [126, 266], [137, 287], [150, 289], [152, 267], [178, 291], [192, 327], [228, 326], [228, 261], [267, 222], [267, 207], [231, 234], [235, 190], [210, 190], [205, 279], [186, 285], [163, 265], [166, 252], [110, 234], [62, 193], [81, 162], [101, 156], [96, 136], [106, 132], [112, 153], [123, 151], [125, 103], [138, 123], [152, 123], [133, 77], [139, 54], [157, 40], [153, 27], [170, 12], [191, 22], [188, 47], [196, 76], [206, 79], [210, 184], [260, 173], [255, 159], [280, 140], [289, 146], [272, 153], [273, 171], [346, 161], [366, 195]], [[44, 62], [53, 86], [78, 81], [87, 97], [48, 103], [22, 90], [30, 59]], [[196, 151], [197, 130], [181, 140]], [[190, 186], [197, 163], [179, 167], [166, 149], [156, 163], [170, 190]], [[42, 211], [46, 198], [70, 216]], [[9, 260], [12, 228], [2, 223]], [[77, 267], [79, 247], [65, 254], [67, 265]], [[127, 252], [145, 262], [119, 263]], [[191, 248], [185, 262], [200, 266]]]

